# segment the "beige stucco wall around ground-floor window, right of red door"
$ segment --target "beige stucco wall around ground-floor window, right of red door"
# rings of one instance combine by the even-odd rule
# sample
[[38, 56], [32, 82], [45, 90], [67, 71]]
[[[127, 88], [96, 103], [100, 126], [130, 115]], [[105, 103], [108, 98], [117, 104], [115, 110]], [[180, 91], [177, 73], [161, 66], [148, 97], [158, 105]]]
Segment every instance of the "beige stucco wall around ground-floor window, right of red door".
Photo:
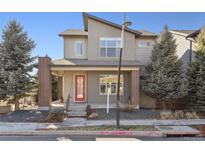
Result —
[[[106, 104], [106, 95], [99, 93], [99, 77], [103, 74], [117, 74], [117, 72], [94, 72], [87, 73], [88, 79], [88, 103], [89, 104]], [[121, 96], [122, 103], [127, 103], [130, 96], [130, 72], [123, 72], [124, 77], [124, 95]], [[116, 103], [116, 95], [110, 96], [110, 103]]]

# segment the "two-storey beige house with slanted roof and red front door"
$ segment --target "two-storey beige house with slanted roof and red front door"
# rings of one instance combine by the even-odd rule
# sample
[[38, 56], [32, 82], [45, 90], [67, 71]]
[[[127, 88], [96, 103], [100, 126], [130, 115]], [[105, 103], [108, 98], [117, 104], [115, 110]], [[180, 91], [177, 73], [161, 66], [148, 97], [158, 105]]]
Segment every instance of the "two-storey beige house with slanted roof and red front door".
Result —
[[[51, 103], [51, 73], [59, 76], [59, 98], [68, 95], [71, 103], [106, 106], [116, 103], [118, 55], [121, 25], [83, 13], [84, 29], [68, 29], [59, 34], [64, 41], [63, 59], [39, 57], [39, 97], [41, 109]], [[146, 30], [126, 28], [120, 84], [121, 103], [139, 107], [140, 70], [150, 61], [157, 35]]]

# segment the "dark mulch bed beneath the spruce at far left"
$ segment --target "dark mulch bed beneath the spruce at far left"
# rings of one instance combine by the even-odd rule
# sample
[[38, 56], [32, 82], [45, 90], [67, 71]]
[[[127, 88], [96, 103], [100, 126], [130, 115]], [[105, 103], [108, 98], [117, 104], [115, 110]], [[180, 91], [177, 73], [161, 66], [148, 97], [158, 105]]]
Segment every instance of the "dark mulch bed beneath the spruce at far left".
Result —
[[21, 110], [0, 115], [0, 122], [44, 122], [48, 111]]

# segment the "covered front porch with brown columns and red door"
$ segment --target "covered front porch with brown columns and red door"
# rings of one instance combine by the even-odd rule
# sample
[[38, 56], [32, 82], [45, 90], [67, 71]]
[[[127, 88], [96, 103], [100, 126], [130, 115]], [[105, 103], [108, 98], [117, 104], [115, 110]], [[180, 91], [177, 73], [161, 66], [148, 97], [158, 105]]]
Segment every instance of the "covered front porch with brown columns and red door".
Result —
[[[91, 105], [92, 108], [107, 107], [107, 92], [110, 88], [109, 107], [116, 104], [116, 66], [60, 65], [49, 57], [39, 58], [39, 97], [40, 109], [51, 105], [51, 74], [58, 77], [58, 99], [65, 102], [70, 96], [70, 103]], [[139, 107], [139, 67], [123, 66], [121, 79], [122, 104]]]

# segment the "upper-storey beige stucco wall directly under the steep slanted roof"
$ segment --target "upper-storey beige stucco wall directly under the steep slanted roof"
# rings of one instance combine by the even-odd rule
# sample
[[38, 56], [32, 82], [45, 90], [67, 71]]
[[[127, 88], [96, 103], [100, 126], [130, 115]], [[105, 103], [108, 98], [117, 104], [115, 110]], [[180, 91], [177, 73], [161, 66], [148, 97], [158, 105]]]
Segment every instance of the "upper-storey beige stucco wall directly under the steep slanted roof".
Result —
[[[120, 38], [121, 30], [97, 22], [92, 19], [88, 19], [88, 60], [110, 60], [117, 58], [102, 58], [100, 57], [100, 45], [99, 41], [102, 37]], [[135, 35], [129, 32], [124, 33], [124, 49], [123, 56], [124, 60], [135, 60]]]

